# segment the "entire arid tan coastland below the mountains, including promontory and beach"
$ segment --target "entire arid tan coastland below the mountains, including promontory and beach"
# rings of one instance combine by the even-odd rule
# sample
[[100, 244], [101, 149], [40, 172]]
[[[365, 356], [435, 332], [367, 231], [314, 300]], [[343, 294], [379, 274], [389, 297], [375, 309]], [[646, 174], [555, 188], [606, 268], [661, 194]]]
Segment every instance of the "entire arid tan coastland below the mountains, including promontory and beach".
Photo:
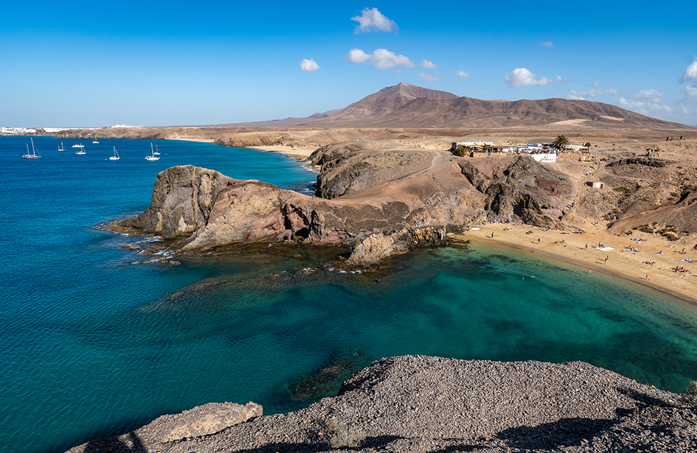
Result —
[[[505, 132], [455, 136], [455, 132], [445, 135], [443, 130], [276, 130], [273, 133], [277, 137], [293, 135], [292, 143], [284, 144], [281, 139], [263, 146], [259, 144], [266, 142], [262, 135], [247, 144], [314, 164], [319, 169], [315, 197], [257, 182], [227, 182], [227, 198], [217, 199], [222, 190], [218, 187], [220, 181], [230, 178], [211, 176], [216, 173], [213, 170], [170, 169], [155, 184], [155, 204], [125, 224], [178, 238], [177, 246], [190, 251], [234, 242], [342, 243], [353, 247], [355, 263], [443, 243], [454, 237], [452, 234], [464, 234], [464, 238], [487, 236], [487, 240], [529, 247], [595, 271], [593, 266], [600, 257], [603, 272], [694, 300], [697, 281], [693, 280], [694, 264], [689, 260], [697, 259], [697, 213], [693, 213], [697, 206], [693, 185], [697, 181], [697, 133], [692, 137], [689, 130]], [[249, 139], [250, 132], [238, 134]], [[590, 151], [562, 153], [553, 163], [507, 153], [459, 157], [450, 151], [453, 141], [512, 146], [551, 141], [555, 134], [572, 137], [572, 144], [590, 142]], [[675, 136], [672, 141], [671, 134]], [[212, 135], [201, 134], [198, 139]], [[229, 140], [236, 135], [227, 132], [227, 138], [220, 137], [214, 140]], [[318, 146], [326, 141], [329, 144]], [[197, 197], [206, 193], [204, 204], [210, 204], [210, 212], [197, 206], [189, 189], [182, 189], [199, 184], [201, 172], [210, 174], [204, 179], [216, 181], [215, 187], [206, 185], [195, 190]], [[229, 194], [235, 192], [233, 186], [247, 194], [245, 213], [240, 213], [245, 222], [235, 220], [234, 232], [230, 224], [233, 216], [227, 210], [243, 205], [240, 196], [230, 198]], [[263, 194], [251, 197], [258, 190]], [[161, 204], [177, 197], [181, 198], [177, 206], [183, 202], [191, 206]], [[258, 209], [252, 213], [252, 199], [266, 201], [257, 204]], [[192, 216], [177, 217], [175, 211]], [[215, 219], [210, 219], [210, 214]], [[162, 222], [156, 220], [168, 217]], [[528, 231], [533, 231], [535, 241], [541, 237], [540, 242], [533, 244], [532, 236], [524, 235]], [[635, 240], [642, 238], [645, 240], [640, 243]], [[611, 250], [599, 252], [605, 248], [597, 247], [599, 243]], [[680, 268], [687, 272], [680, 272]], [[694, 270], [697, 272], [697, 268]]]

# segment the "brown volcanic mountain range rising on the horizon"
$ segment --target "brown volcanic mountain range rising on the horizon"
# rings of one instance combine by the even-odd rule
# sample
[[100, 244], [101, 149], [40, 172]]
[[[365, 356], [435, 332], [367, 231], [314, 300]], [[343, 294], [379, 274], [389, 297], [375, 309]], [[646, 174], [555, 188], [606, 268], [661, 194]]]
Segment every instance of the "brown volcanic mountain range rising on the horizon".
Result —
[[338, 114], [296, 125], [328, 128], [580, 128], [684, 129], [689, 126], [650, 118], [588, 100], [479, 100], [409, 84], [381, 89]]

